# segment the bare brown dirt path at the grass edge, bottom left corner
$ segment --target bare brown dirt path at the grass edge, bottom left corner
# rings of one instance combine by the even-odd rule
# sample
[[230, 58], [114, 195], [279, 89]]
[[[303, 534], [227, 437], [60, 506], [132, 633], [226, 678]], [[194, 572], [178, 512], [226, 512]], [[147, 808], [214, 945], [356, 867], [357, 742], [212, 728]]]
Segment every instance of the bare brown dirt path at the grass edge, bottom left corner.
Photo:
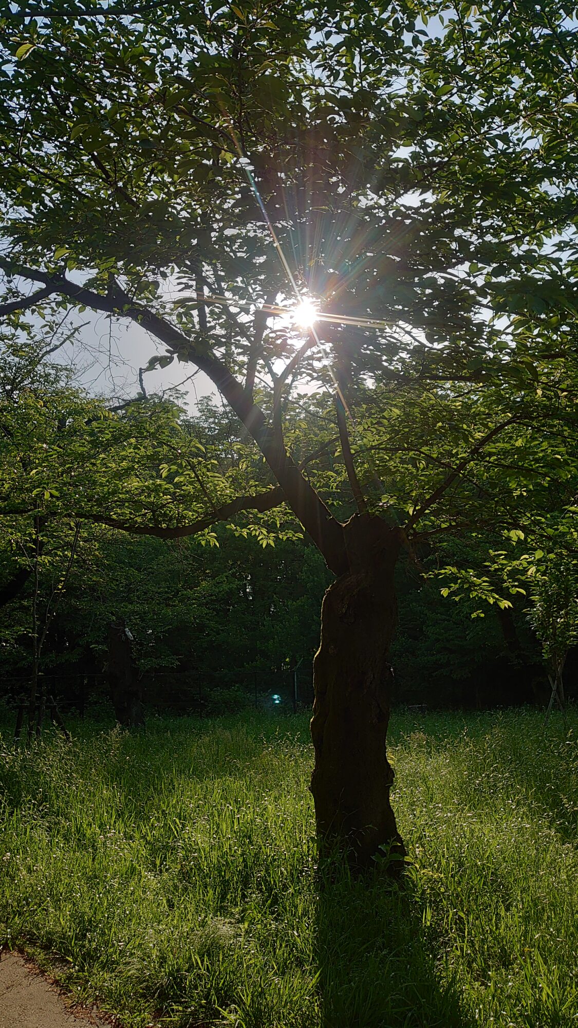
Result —
[[17, 953], [0, 954], [0, 1028], [110, 1028], [70, 1005], [56, 985]]

